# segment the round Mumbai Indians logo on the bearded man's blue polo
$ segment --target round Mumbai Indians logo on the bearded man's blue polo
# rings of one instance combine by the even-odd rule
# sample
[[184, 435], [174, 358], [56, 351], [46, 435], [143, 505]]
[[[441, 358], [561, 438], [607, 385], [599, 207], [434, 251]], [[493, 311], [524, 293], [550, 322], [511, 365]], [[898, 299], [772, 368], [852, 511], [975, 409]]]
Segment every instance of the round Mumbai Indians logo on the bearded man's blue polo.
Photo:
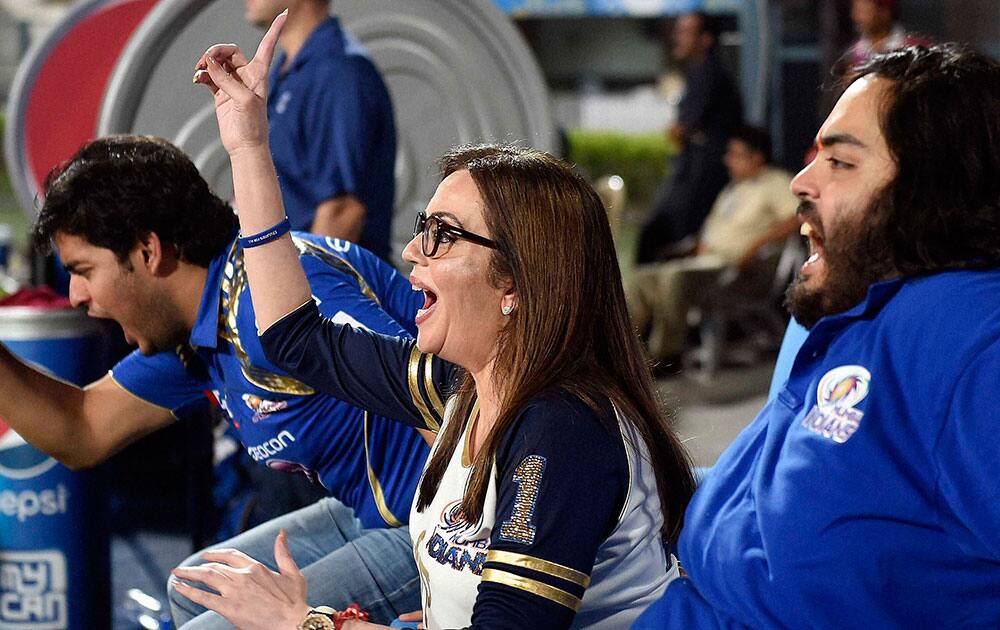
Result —
[[842, 365], [827, 372], [816, 387], [816, 406], [802, 426], [843, 444], [861, 426], [864, 412], [855, 409], [868, 396], [871, 373], [860, 365]]

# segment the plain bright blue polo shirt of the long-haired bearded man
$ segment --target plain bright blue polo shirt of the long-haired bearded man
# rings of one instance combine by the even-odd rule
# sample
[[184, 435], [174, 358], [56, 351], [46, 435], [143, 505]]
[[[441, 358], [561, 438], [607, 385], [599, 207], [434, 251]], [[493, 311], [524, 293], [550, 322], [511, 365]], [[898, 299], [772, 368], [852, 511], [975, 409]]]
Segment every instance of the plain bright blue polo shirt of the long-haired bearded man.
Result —
[[820, 320], [695, 493], [636, 628], [1000, 627], [1000, 270]]

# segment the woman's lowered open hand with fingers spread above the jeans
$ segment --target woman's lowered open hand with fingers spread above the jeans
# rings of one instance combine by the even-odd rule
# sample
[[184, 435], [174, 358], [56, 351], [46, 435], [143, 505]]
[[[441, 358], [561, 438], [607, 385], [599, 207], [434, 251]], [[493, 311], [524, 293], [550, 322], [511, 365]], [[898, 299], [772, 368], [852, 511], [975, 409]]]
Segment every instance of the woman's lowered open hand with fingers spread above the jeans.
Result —
[[196, 604], [219, 613], [241, 630], [294, 630], [309, 612], [306, 580], [281, 530], [274, 541], [278, 573], [242, 551], [218, 549], [201, 555], [207, 564], [178, 567], [177, 578], [200, 582], [218, 595], [177, 581], [175, 588]]

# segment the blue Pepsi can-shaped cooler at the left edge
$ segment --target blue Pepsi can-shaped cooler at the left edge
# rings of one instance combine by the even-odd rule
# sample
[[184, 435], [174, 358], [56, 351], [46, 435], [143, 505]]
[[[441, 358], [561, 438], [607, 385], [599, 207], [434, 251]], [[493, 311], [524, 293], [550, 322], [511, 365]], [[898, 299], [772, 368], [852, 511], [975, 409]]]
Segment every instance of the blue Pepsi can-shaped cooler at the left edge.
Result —
[[[75, 309], [0, 307], [0, 341], [78, 385], [108, 368], [103, 326]], [[105, 481], [100, 469], [69, 470], [0, 419], [0, 628], [111, 627]]]

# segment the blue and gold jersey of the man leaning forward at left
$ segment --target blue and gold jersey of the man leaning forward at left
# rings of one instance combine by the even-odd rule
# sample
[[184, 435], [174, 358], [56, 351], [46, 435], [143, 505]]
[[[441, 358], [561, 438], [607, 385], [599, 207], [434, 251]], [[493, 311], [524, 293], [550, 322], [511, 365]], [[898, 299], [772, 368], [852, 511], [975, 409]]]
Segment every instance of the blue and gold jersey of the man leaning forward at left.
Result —
[[[423, 296], [394, 269], [346, 241], [294, 237], [325, 317], [387, 335], [415, 334], [413, 316]], [[322, 483], [365, 527], [407, 521], [428, 453], [423, 438], [406, 425], [316, 392], [267, 360], [235, 242], [209, 266], [189, 342], [178, 352], [136, 351], [112, 376], [178, 417], [217, 402], [253, 460]]]

